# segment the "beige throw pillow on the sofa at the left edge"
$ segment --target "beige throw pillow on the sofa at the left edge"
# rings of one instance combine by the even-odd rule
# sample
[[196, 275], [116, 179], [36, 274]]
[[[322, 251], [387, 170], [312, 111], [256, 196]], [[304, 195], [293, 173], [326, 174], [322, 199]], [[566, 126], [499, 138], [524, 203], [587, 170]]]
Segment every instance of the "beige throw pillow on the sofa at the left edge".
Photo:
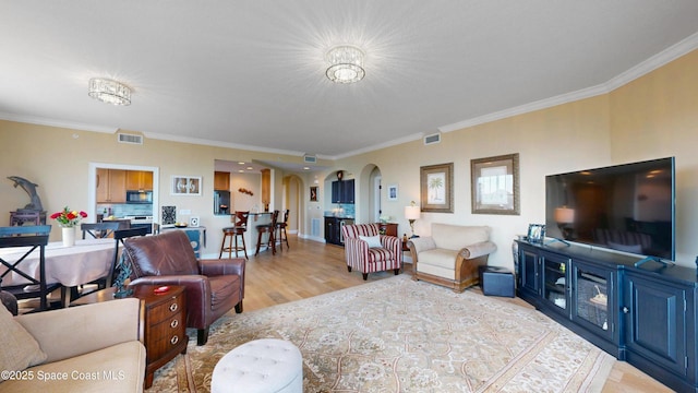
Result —
[[39, 343], [4, 307], [0, 307], [0, 370], [20, 371], [46, 360]]

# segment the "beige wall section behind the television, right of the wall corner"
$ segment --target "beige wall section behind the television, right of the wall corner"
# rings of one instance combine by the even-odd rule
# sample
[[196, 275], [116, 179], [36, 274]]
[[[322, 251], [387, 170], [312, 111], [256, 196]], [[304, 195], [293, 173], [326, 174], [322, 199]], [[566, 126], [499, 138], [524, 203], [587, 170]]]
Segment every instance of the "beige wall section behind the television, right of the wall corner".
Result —
[[698, 50], [611, 95], [613, 160], [676, 157], [676, 263], [698, 254]]

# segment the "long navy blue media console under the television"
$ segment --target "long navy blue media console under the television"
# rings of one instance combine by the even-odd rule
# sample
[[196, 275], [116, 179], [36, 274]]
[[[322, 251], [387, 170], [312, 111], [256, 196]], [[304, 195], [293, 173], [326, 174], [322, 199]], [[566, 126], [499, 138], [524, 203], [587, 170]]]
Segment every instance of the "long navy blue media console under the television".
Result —
[[696, 269], [516, 241], [517, 295], [678, 392], [698, 391]]

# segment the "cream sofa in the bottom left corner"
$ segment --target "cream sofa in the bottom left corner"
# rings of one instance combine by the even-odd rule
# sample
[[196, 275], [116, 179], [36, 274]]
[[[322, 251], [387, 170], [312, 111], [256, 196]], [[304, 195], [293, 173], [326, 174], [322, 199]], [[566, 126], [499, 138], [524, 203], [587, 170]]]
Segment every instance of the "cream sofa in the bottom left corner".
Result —
[[[12, 368], [3, 371], [0, 392], [142, 392], [140, 306], [128, 298], [14, 318], [3, 308], [0, 343], [12, 354], [0, 364]], [[23, 369], [17, 360], [36, 366]]]

